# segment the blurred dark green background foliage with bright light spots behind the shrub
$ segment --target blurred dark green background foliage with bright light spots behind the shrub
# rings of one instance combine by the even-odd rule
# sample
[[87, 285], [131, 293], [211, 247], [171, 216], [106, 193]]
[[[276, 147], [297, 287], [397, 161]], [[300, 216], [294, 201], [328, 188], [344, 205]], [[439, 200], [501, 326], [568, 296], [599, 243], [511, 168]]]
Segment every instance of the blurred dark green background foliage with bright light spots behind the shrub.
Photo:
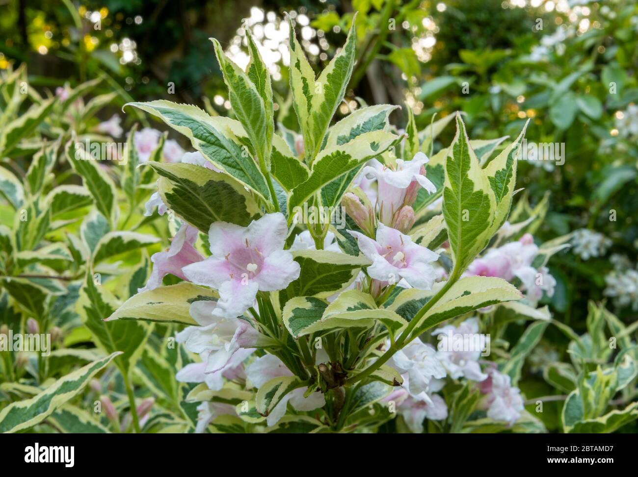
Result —
[[[588, 300], [607, 300], [625, 323], [636, 319], [634, 1], [0, 0], [0, 7], [0, 71], [26, 63], [29, 84], [43, 95], [102, 78], [94, 94], [116, 94], [93, 121], [119, 114], [124, 130], [146, 121], [121, 114], [133, 98], [232, 116], [208, 38], [218, 38], [245, 66], [246, 28], [271, 69], [277, 120], [296, 128], [284, 12], [311, 63], [325, 66], [359, 11], [357, 64], [338, 116], [392, 103], [403, 106], [392, 117], [398, 128], [412, 108], [423, 130], [433, 116], [461, 110], [475, 139], [516, 136], [530, 119], [528, 141], [565, 143], [565, 163], [519, 163], [518, 185], [525, 189], [519, 197], [545, 210], [538, 240], [578, 231], [572, 251], [550, 263], [558, 284], [547, 304], [578, 332], [586, 332]], [[437, 140], [445, 146], [453, 135], [449, 127]], [[565, 341], [555, 330], [545, 339], [551, 349]]]

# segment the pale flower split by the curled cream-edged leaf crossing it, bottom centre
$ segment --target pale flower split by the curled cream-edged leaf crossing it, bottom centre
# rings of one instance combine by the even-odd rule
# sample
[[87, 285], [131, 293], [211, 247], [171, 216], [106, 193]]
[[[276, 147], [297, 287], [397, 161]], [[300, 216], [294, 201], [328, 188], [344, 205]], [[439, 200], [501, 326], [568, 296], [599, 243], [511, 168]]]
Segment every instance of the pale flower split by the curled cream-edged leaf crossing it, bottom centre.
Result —
[[[286, 365], [274, 355], [264, 355], [257, 358], [246, 367], [246, 376], [257, 389], [262, 387], [267, 381], [281, 376], [293, 376]], [[313, 411], [325, 405], [325, 399], [320, 392], [313, 392], [308, 397], [304, 397], [307, 388], [297, 388], [286, 394], [277, 406], [272, 409], [266, 418], [266, 423], [273, 426], [286, 413], [288, 402], [297, 411]]]

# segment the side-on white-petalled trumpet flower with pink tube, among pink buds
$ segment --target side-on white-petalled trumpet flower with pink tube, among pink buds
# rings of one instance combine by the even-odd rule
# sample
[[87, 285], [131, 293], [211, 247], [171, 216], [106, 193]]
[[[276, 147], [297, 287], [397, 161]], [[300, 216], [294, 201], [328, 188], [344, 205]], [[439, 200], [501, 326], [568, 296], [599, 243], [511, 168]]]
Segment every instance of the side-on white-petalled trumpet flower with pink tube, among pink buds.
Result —
[[376, 177], [378, 183], [376, 202], [380, 220], [384, 224], [392, 224], [392, 217], [403, 205], [414, 203], [419, 186], [424, 187], [431, 194], [436, 192], [434, 184], [425, 176], [423, 166], [428, 161], [425, 154], [417, 152], [412, 161], [397, 159], [395, 168], [383, 166], [378, 161], [363, 168], [362, 173], [367, 177]]

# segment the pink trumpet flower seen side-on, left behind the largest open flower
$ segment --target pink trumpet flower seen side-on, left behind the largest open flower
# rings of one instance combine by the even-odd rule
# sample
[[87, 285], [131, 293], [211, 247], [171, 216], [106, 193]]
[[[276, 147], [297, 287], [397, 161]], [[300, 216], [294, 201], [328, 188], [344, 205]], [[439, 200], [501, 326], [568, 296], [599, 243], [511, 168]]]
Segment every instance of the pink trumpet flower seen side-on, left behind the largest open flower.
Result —
[[151, 278], [144, 288], [138, 291], [154, 290], [161, 285], [162, 279], [167, 274], [173, 274], [181, 279], [186, 280], [186, 276], [182, 273], [182, 267], [193, 262], [204, 260], [193, 244], [197, 240], [197, 229], [188, 224], [182, 224], [179, 231], [173, 237], [170, 248], [165, 252], [154, 253], [151, 256], [153, 263], [153, 271]]

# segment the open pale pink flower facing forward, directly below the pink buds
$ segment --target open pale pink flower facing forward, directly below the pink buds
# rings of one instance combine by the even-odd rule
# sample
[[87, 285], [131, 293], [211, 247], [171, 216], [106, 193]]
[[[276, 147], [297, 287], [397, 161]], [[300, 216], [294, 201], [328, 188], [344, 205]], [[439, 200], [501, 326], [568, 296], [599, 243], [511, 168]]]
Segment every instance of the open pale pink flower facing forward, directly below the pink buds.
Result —
[[437, 275], [430, 263], [438, 260], [438, 254], [414, 244], [408, 235], [382, 223], [376, 229], [376, 240], [359, 232], [348, 232], [357, 239], [360, 251], [372, 260], [372, 265], [367, 267], [370, 277], [390, 283], [403, 278], [413, 288], [432, 288]]

